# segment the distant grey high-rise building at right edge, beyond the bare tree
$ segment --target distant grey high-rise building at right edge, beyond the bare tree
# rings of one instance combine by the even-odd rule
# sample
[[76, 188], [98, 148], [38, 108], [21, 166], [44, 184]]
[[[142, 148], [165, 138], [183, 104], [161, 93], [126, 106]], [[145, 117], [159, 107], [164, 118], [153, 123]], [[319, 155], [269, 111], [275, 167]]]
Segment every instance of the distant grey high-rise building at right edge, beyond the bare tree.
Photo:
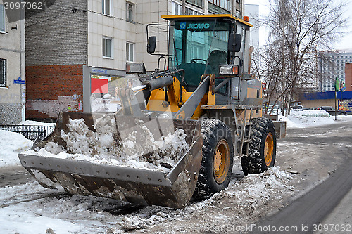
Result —
[[320, 90], [334, 91], [336, 79], [345, 82], [345, 64], [352, 62], [352, 50], [320, 53]]

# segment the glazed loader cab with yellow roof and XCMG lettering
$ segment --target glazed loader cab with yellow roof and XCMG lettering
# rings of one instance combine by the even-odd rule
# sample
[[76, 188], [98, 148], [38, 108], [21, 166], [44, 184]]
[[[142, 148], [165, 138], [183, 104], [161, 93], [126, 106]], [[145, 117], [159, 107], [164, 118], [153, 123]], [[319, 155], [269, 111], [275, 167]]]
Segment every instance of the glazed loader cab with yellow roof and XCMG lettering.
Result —
[[[215, 74], [215, 85], [220, 84], [224, 77], [219, 74], [219, 65], [237, 64], [246, 72], [243, 61], [248, 51], [251, 27], [248, 23], [232, 15], [167, 15], [163, 18], [170, 21], [168, 67], [185, 70], [187, 91], [196, 89], [203, 74]], [[234, 34], [241, 35], [237, 52], [229, 51], [229, 37]], [[228, 99], [230, 84], [218, 93]]]

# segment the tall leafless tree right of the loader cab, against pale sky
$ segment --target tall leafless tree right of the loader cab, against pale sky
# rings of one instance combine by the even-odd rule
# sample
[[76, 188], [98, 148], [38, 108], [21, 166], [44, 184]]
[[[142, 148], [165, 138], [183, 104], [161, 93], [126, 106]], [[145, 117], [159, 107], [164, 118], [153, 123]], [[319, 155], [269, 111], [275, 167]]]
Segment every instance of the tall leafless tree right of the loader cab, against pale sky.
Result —
[[[331, 48], [346, 27], [345, 3], [336, 0], [270, 0], [268, 44], [260, 51], [262, 80], [268, 85], [265, 96], [271, 102], [296, 100], [317, 79], [317, 51]], [[256, 63], [254, 63], [256, 64]]]

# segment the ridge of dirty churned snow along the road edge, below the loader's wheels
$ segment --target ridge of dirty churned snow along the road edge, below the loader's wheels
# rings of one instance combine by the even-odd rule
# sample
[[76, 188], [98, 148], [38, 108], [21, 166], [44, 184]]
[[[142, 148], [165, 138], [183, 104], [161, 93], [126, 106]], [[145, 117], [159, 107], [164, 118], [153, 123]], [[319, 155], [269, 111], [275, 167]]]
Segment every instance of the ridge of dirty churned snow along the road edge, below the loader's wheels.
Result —
[[[152, 228], [162, 223], [168, 233], [177, 233], [177, 231], [171, 232], [168, 229], [168, 226], [172, 229], [175, 228], [172, 227], [172, 222], [164, 223], [164, 221], [191, 219], [191, 216], [199, 216], [204, 214], [207, 209], [218, 207], [225, 200], [229, 202], [229, 207], [222, 207], [222, 210], [232, 209], [238, 214], [238, 219], [245, 219], [250, 212], [256, 210], [256, 207], [263, 206], [269, 200], [293, 194], [295, 188], [290, 186], [292, 179], [293, 177], [281, 171], [280, 167], [272, 167], [262, 174], [245, 176], [241, 181], [232, 180], [225, 190], [215, 193], [207, 200], [191, 202], [184, 210], [155, 206], [146, 207], [138, 214], [124, 216], [119, 223], [120, 228], [122, 230], [136, 230]], [[221, 216], [221, 214], [217, 214], [217, 216]], [[225, 221], [225, 219], [222, 219], [222, 221]], [[208, 225], [206, 221], [204, 223], [204, 226]], [[119, 229], [115, 228], [113, 230], [117, 232]]]

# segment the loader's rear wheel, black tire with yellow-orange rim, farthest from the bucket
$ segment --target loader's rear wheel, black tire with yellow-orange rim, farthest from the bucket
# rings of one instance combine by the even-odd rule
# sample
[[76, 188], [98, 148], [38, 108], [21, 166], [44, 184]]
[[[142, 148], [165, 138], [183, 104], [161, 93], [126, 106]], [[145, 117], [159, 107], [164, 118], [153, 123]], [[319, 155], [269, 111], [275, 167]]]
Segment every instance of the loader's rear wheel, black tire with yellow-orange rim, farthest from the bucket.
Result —
[[275, 158], [276, 135], [274, 123], [265, 117], [253, 119], [249, 152], [247, 156], [241, 157], [244, 174], [260, 174], [268, 170], [269, 167], [274, 166]]

